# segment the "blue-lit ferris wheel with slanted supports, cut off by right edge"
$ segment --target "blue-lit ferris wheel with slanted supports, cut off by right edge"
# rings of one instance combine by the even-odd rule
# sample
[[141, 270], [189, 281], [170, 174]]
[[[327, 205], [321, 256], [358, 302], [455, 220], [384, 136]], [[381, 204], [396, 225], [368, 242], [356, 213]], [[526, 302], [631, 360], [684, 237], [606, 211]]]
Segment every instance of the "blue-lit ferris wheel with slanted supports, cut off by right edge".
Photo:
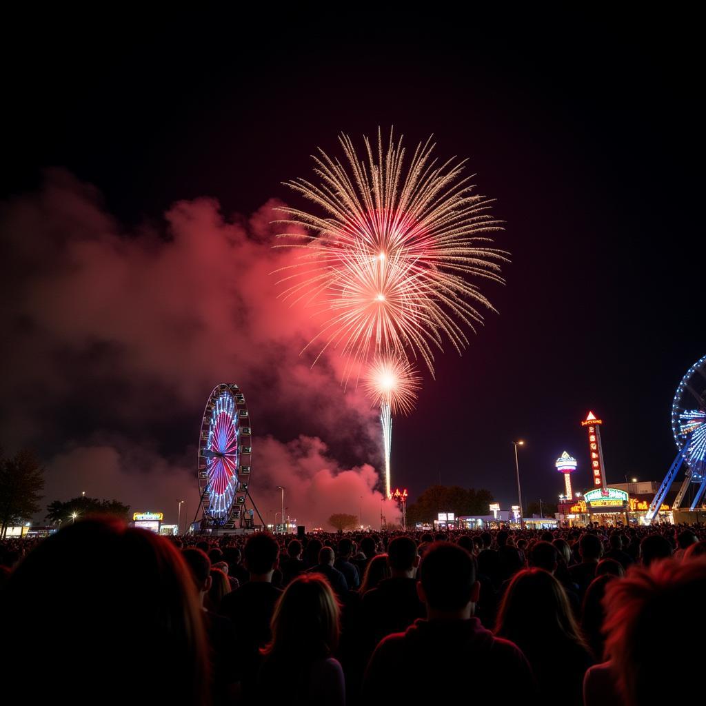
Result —
[[698, 489], [693, 495], [689, 510], [698, 507], [706, 490], [706, 356], [686, 371], [676, 388], [671, 405], [671, 431], [677, 454], [650, 503], [650, 509], [645, 515], [647, 522], [654, 520], [684, 463], [686, 474], [676, 493], [672, 509], [681, 508], [681, 502], [691, 483], [698, 483]]

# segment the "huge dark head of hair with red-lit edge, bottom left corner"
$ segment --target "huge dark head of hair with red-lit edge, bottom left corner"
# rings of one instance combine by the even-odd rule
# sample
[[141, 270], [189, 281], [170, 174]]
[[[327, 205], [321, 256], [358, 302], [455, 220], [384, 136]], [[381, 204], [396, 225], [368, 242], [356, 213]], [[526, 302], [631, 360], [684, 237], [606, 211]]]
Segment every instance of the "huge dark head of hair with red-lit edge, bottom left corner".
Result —
[[[109, 685], [115, 702], [139, 693], [150, 701], [210, 703], [202, 613], [189, 569], [168, 539], [114, 517], [62, 527], [30, 551], [4, 587], [0, 625], [12, 649], [3, 669], [13, 675], [4, 696], [12, 702], [11, 690], [31, 683], [33, 702], [71, 702], [76, 685], [66, 675], [80, 666], [83, 695]], [[128, 656], [140, 652], [140, 635], [158, 635], [160, 647], [126, 670]], [[56, 640], [61, 649], [44, 660], [37, 679], [27, 655]]]

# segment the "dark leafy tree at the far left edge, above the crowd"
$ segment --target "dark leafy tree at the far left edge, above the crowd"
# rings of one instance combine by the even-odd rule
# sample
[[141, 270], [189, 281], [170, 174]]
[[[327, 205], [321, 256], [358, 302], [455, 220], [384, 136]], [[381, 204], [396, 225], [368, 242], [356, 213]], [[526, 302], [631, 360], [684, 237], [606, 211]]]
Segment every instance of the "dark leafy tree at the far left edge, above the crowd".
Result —
[[0, 456], [0, 537], [10, 525], [25, 522], [42, 509], [44, 483], [44, 468], [32, 451]]

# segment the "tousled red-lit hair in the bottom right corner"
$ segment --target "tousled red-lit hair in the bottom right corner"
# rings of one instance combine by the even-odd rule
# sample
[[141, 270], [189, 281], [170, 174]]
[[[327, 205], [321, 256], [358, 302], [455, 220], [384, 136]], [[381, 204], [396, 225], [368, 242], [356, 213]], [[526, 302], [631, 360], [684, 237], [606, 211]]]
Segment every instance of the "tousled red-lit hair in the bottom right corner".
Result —
[[[674, 700], [671, 681], [655, 678], [664, 673], [664, 652], [654, 647], [654, 631], [681, 624], [685, 609], [699, 606], [705, 594], [706, 558], [634, 566], [606, 587], [606, 654], [629, 706]], [[682, 631], [680, 652], [698, 654], [700, 639], [698, 631]], [[683, 702], [692, 702], [697, 688], [697, 682], [689, 684]]]

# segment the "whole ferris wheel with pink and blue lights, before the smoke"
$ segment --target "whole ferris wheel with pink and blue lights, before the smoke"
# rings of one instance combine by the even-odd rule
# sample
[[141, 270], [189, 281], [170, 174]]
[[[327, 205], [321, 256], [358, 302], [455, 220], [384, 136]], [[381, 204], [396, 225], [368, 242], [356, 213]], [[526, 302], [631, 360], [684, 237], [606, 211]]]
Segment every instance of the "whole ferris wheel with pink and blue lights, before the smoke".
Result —
[[216, 385], [206, 402], [198, 439], [202, 528], [232, 529], [248, 524], [245, 501], [249, 494], [251, 443], [245, 396], [233, 383]]

